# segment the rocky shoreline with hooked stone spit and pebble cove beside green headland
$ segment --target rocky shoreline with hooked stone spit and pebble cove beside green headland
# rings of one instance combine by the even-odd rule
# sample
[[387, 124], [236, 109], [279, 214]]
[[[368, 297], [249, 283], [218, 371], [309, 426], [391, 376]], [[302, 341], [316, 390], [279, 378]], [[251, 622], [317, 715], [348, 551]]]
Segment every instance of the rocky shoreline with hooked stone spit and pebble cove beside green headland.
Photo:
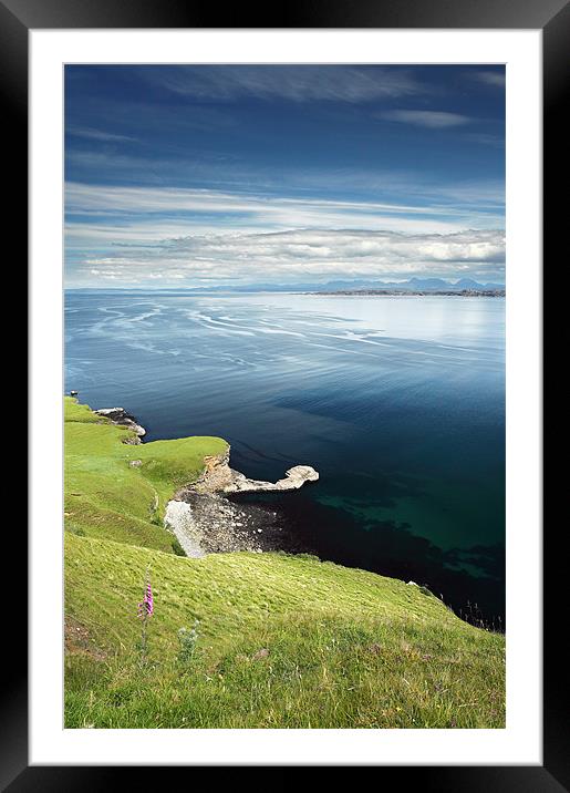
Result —
[[[124, 408], [101, 408], [94, 411], [113, 424], [135, 432], [124, 443], [143, 442], [146, 430]], [[310, 465], [294, 465], [277, 482], [250, 480], [229, 465], [228, 450], [219, 456], [205, 457], [201, 476], [182, 487], [168, 502], [164, 525], [172, 532], [188, 557], [206, 554], [248, 550], [288, 553], [310, 552], [289, 529], [287, 519], [271, 504], [240, 504], [232, 496], [241, 493], [296, 491], [319, 480]]]

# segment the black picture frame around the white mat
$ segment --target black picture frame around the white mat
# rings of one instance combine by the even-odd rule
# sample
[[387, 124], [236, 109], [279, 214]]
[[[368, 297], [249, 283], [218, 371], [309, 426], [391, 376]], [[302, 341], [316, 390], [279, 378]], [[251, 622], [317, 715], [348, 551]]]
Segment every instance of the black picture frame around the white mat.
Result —
[[[224, 24], [220, 24], [220, 19]], [[535, 29], [543, 37], [543, 260], [562, 251], [566, 207], [553, 199], [561, 182], [567, 148], [564, 89], [568, 85], [570, 6], [564, 0], [289, 0], [287, 6], [251, 4], [220, 10], [214, 4], [184, 0], [0, 0], [0, 97], [2, 102], [4, 174], [10, 189], [10, 234], [28, 239], [28, 34], [38, 29], [74, 28], [423, 28], [423, 29]], [[562, 138], [564, 136], [564, 140]], [[562, 166], [562, 167], [561, 167]], [[566, 240], [564, 240], [566, 241]], [[560, 244], [560, 246], [559, 246]], [[21, 246], [20, 246], [21, 250]], [[22, 360], [19, 357], [18, 360]], [[18, 371], [18, 367], [14, 367]], [[25, 380], [25, 375], [24, 375]], [[33, 383], [32, 383], [33, 387]], [[0, 784], [12, 793], [21, 791], [104, 790], [133, 785], [133, 769], [105, 766], [29, 766], [28, 764], [28, 679], [24, 532], [10, 532], [10, 567], [18, 575], [19, 607], [11, 598], [3, 609], [3, 638], [10, 652], [6, 690], [1, 700], [2, 739]], [[570, 790], [570, 746], [568, 699], [561, 681], [568, 677], [567, 653], [561, 652], [559, 619], [564, 601], [566, 577], [556, 575], [557, 552], [545, 547], [545, 659], [543, 659], [543, 765], [501, 766], [380, 766], [375, 781], [385, 784], [394, 774], [398, 785], [417, 785], [423, 791], [510, 791], [556, 793]], [[13, 590], [12, 590], [13, 591]], [[548, 648], [548, 649], [547, 649]], [[260, 763], [261, 764], [261, 763]], [[175, 770], [175, 769], [170, 769]], [[222, 769], [220, 769], [222, 770]], [[144, 769], [145, 784], [164, 784], [164, 769]], [[128, 774], [128, 777], [127, 777]], [[219, 777], [218, 777], [219, 779]], [[287, 776], [281, 777], [284, 782]], [[397, 782], [396, 782], [397, 780]], [[190, 784], [188, 781], [186, 784]], [[193, 783], [194, 784], [194, 783]], [[274, 784], [274, 781], [272, 781]]]

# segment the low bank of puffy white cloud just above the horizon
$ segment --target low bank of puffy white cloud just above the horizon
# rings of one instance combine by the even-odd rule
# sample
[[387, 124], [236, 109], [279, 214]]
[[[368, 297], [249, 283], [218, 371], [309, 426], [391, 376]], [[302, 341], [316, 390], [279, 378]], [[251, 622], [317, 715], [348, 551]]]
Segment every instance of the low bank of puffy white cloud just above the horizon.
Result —
[[148, 250], [93, 256], [85, 268], [125, 282], [170, 278], [189, 281], [277, 281], [330, 277], [406, 278], [458, 271], [500, 277], [502, 231], [406, 235], [386, 231], [289, 230], [270, 234], [190, 235]]

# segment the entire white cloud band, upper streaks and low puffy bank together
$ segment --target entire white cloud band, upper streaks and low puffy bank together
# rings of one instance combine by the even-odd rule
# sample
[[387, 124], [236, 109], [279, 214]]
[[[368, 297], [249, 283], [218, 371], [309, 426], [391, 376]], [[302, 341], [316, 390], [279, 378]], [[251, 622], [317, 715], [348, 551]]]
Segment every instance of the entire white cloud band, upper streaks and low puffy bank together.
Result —
[[[500, 190], [469, 183], [433, 189], [439, 204], [72, 183], [68, 271], [74, 281], [124, 284], [397, 279], [425, 272], [500, 278]], [[411, 202], [417, 197], [412, 188], [410, 194]], [[487, 206], [487, 214], [469, 202]]]

